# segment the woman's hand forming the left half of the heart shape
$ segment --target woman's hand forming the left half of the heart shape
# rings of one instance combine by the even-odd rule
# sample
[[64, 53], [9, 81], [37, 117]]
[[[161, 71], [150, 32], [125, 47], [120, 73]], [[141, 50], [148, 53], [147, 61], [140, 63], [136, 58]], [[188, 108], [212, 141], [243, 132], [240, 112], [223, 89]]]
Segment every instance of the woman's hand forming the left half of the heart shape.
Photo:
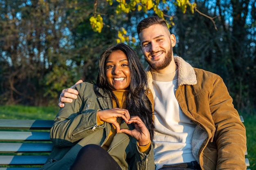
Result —
[[126, 109], [121, 109], [121, 108], [112, 108], [112, 109], [107, 109], [107, 110], [101, 110], [98, 111], [98, 117], [101, 121], [113, 124], [116, 129], [117, 133], [120, 130], [120, 126], [117, 122], [118, 117], [121, 117], [124, 119], [126, 123], [128, 123], [130, 119], [130, 113]]

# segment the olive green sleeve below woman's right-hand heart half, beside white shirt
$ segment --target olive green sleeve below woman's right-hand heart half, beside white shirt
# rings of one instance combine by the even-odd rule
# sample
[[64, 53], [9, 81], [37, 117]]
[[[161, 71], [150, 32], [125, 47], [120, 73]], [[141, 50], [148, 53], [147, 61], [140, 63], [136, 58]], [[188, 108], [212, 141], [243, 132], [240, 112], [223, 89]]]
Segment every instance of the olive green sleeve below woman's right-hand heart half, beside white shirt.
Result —
[[151, 142], [150, 151], [148, 154], [137, 151], [135, 153], [135, 163], [133, 163], [132, 170], [155, 170], [153, 144]]

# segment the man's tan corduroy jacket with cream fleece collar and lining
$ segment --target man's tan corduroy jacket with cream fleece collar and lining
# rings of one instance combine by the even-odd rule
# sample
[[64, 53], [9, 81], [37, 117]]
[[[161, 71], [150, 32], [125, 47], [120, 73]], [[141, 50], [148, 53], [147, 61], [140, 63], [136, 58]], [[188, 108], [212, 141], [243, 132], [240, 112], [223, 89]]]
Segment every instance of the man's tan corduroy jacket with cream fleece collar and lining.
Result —
[[[246, 135], [222, 78], [193, 68], [181, 57], [175, 96], [183, 113], [197, 124], [191, 144], [193, 156], [202, 170], [245, 170]], [[148, 84], [153, 78], [147, 68]]]

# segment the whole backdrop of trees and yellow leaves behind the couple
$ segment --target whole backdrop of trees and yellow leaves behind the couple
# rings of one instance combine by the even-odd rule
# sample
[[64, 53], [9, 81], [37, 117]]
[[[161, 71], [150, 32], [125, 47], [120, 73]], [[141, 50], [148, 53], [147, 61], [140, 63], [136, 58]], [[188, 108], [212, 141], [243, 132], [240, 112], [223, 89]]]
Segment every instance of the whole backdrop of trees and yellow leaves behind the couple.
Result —
[[[101, 52], [117, 42], [134, 48], [146, 67], [136, 26], [141, 18], [158, 15], [177, 37], [175, 54], [219, 74], [236, 108], [254, 108], [255, 0], [193, 2], [3, 0], [0, 104], [56, 106], [63, 88], [79, 79], [96, 82]], [[209, 19], [217, 14], [214, 22]]]

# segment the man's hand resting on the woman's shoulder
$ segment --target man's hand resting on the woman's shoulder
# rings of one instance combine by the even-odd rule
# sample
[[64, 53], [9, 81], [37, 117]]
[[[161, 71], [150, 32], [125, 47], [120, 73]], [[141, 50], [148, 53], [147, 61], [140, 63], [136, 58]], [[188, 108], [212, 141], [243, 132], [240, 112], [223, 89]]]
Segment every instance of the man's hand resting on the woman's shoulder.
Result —
[[65, 88], [62, 90], [61, 94], [60, 94], [60, 98], [58, 99], [58, 106], [60, 108], [63, 108], [65, 106], [65, 102], [67, 103], [72, 103], [73, 99], [77, 98], [78, 95], [78, 91], [73, 89], [77, 84], [82, 83], [83, 80], [79, 80], [78, 82], [76, 82], [76, 84], [74, 84], [73, 86], [71, 86], [70, 88]]

